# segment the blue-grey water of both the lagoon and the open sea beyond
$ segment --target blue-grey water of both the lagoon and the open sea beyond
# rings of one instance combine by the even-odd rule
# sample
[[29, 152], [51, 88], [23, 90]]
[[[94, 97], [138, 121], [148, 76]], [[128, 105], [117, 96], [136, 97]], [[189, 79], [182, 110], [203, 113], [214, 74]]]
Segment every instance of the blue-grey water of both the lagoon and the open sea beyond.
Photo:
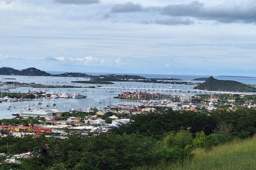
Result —
[[[48, 72], [51, 74], [60, 74], [64, 72]], [[120, 73], [86, 73], [89, 75], [105, 75], [105, 74], [120, 74]], [[124, 74], [124, 73], [122, 73]], [[196, 78], [209, 78], [210, 75], [168, 75], [168, 74], [129, 74], [127, 75], [140, 75], [146, 78], [177, 78], [182, 79], [182, 81], [188, 82], [203, 82], [203, 81], [194, 81], [193, 79]], [[255, 77], [231, 77], [231, 76], [222, 76], [222, 75], [215, 75], [213, 76], [215, 79], [219, 80], [234, 80], [238, 82], [242, 82], [245, 84], [256, 84]], [[81, 83], [72, 83], [71, 81], [78, 81], [78, 80], [86, 80], [84, 78], [64, 78], [64, 77], [31, 77], [31, 76], [21, 76], [21, 75], [3, 75], [1, 81], [13, 81], [13, 82], [20, 82], [20, 83], [36, 83], [36, 84], [44, 84], [44, 85], [53, 85], [57, 86], [57, 88], [31, 88], [31, 87], [19, 87], [15, 89], [9, 89], [10, 92], [21, 92], [27, 93], [28, 90], [42, 90], [46, 92], [55, 92], [61, 93], [65, 92], [70, 95], [72, 94], [82, 94], [86, 95], [87, 98], [84, 99], [44, 99], [41, 101], [42, 105], [37, 105], [38, 101], [22, 101], [20, 102], [20, 106], [18, 102], [10, 103], [10, 102], [3, 102], [0, 103], [0, 119], [3, 118], [13, 118], [12, 114], [18, 112], [19, 110], [23, 111], [26, 109], [26, 105], [30, 105], [31, 109], [34, 108], [43, 108], [43, 109], [55, 109], [52, 104], [55, 102], [57, 104], [57, 108], [60, 109], [61, 112], [67, 112], [69, 109], [83, 109], [86, 110], [90, 107], [96, 107], [98, 109], [102, 109], [109, 104], [117, 105], [117, 104], [137, 104], [134, 101], [123, 101], [119, 99], [114, 99], [113, 97], [118, 96], [121, 92], [124, 91], [136, 91], [135, 89], [140, 88], [155, 88], [155, 89], [170, 89], [171, 84], [164, 84], [164, 83], [138, 83], [138, 82], [114, 82], [115, 84], [101, 84], [106, 89], [98, 89], [98, 88], [86, 88], [89, 86], [97, 86], [98, 84], [81, 84]], [[81, 86], [81, 88], [59, 88], [58, 86]], [[173, 85], [173, 84], [172, 84]], [[122, 88], [129, 88], [129, 90], [123, 90]], [[193, 89], [195, 86], [192, 85], [181, 85], [173, 87], [173, 89], [184, 89], [189, 90]], [[108, 89], [109, 88], [109, 89]], [[113, 88], [113, 89], [111, 89]], [[115, 88], [115, 89], [114, 89]], [[150, 92], [159, 92], [161, 94], [172, 95], [175, 94], [174, 92], [170, 91], [146, 91]], [[177, 92], [177, 95], [181, 95]], [[193, 94], [195, 95], [195, 94]], [[35, 106], [31, 106], [35, 103]], [[50, 107], [46, 107], [46, 104], [50, 103]], [[12, 106], [10, 110], [7, 110], [9, 107]], [[15, 107], [15, 108], [14, 108]]]

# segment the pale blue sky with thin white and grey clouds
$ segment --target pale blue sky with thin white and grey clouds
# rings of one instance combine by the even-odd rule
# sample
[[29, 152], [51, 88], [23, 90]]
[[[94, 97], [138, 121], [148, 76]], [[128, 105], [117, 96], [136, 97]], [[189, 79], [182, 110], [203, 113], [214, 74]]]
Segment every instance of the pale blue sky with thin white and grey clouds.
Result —
[[256, 77], [256, 0], [0, 0], [0, 67]]

